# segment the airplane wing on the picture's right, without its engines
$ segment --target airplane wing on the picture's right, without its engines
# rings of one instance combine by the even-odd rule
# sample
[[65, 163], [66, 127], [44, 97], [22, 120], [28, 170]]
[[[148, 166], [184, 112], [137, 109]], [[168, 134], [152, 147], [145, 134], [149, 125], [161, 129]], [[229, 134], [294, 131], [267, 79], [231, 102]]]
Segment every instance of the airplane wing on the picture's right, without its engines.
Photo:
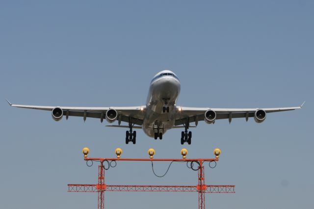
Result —
[[[304, 102], [305, 103], [305, 102]], [[303, 104], [304, 104], [303, 103]], [[207, 110], [213, 110], [216, 113], [216, 120], [219, 119], [229, 119], [229, 123], [232, 118], [246, 118], [246, 121], [249, 117], [254, 117], [254, 113], [257, 110], [264, 110], [266, 113], [269, 112], [280, 112], [288, 111], [294, 109], [301, 109], [301, 106], [292, 106], [292, 107], [276, 107], [276, 108], [211, 108], [211, 107], [177, 107], [177, 116], [175, 126], [183, 125], [188, 122], [195, 122], [205, 120], [205, 112]]]

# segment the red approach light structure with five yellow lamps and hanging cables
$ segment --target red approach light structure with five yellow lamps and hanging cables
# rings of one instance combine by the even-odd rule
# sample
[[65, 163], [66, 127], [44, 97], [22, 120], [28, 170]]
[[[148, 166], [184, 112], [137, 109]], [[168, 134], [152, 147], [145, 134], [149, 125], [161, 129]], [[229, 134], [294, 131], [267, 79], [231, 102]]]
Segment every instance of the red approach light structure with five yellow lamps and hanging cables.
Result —
[[[97, 184], [68, 184], [68, 192], [98, 192], [98, 209], [105, 208], [105, 191], [164, 191], [164, 192], [198, 192], [198, 208], [205, 209], [205, 193], [235, 193], [235, 185], [206, 185], [204, 176], [204, 162], [209, 162], [209, 167], [214, 168], [221, 153], [220, 149], [214, 150], [215, 158], [193, 158], [188, 159], [186, 149], [181, 150], [183, 158], [154, 158], [154, 149], [148, 150], [150, 158], [120, 158], [122, 149], [115, 150], [116, 158], [87, 157], [89, 149], [83, 148], [84, 160], [87, 166], [92, 166], [94, 161], [100, 162], [98, 166]], [[154, 161], [186, 162], [188, 168], [198, 171], [197, 185], [109, 185], [105, 184], [105, 170], [115, 167], [117, 161]], [[212, 164], [210, 164], [212, 163]], [[154, 168], [153, 168], [154, 172]], [[167, 172], [166, 172], [167, 173]], [[154, 172], [155, 174], [155, 172]], [[155, 174], [156, 175], [156, 174]], [[157, 175], [156, 175], [157, 176]]]

